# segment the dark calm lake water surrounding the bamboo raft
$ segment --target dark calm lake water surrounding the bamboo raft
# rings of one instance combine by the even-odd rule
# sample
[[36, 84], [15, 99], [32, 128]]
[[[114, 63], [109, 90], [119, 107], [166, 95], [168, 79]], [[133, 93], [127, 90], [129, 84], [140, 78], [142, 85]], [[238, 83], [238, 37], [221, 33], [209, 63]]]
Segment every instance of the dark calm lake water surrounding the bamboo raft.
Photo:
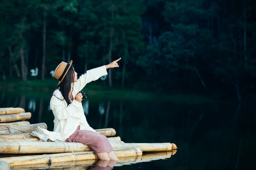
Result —
[[[22, 107], [30, 123], [53, 129], [51, 92], [0, 90], [0, 107]], [[130, 162], [114, 170], [248, 170], [256, 168], [256, 106], [237, 103], [177, 104], [161, 99], [111, 99], [88, 95], [85, 115], [94, 128], [114, 128], [126, 143], [177, 145], [168, 158]], [[163, 153], [166, 154], [166, 153]], [[167, 153], [168, 155], [168, 153]], [[75, 169], [76, 167], [74, 167]], [[80, 167], [81, 168], [81, 167]], [[35, 168], [36, 169], [36, 168]], [[69, 168], [65, 168], [69, 169]], [[81, 169], [88, 169], [81, 168]]]

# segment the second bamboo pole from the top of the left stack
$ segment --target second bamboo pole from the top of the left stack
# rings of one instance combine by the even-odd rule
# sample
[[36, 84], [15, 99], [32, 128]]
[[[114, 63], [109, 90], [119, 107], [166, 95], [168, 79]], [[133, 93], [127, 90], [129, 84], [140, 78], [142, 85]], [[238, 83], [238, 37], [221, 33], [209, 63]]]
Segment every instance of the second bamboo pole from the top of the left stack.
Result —
[[31, 113], [25, 112], [25, 113], [16, 113], [11, 115], [0, 115], [0, 122], [11, 122], [11, 121], [19, 121], [19, 120], [25, 120], [30, 119]]

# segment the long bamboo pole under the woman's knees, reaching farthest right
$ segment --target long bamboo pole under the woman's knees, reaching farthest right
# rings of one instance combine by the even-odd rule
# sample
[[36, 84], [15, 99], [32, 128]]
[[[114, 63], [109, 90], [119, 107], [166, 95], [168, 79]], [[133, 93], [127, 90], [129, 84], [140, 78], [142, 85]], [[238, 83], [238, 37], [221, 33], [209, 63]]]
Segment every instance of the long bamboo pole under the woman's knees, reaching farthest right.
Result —
[[[115, 149], [139, 148], [143, 152], [161, 152], [177, 149], [171, 143], [115, 143], [110, 142]], [[45, 149], [48, 148], [48, 149]], [[2, 141], [0, 153], [3, 154], [38, 154], [89, 151], [91, 148], [79, 142], [51, 142], [51, 141]]]

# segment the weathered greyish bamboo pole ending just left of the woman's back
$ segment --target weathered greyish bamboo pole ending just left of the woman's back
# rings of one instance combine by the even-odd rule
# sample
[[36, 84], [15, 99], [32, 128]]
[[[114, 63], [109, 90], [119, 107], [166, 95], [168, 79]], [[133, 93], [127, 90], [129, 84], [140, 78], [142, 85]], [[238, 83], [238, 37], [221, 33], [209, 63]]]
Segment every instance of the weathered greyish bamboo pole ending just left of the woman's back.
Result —
[[2, 134], [2, 133], [18, 133], [18, 132], [31, 133], [33, 131], [37, 131], [37, 127], [47, 129], [47, 125], [45, 123], [38, 123], [38, 124], [30, 124], [30, 125], [23, 125], [23, 126], [0, 128], [0, 134]]

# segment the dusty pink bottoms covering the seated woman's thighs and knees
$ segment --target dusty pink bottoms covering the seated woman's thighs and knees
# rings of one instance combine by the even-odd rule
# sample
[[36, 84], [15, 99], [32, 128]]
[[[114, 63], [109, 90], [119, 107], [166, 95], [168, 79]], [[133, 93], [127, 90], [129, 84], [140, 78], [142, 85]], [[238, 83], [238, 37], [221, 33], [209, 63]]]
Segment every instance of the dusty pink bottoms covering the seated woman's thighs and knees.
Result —
[[90, 146], [95, 153], [114, 151], [106, 136], [90, 130], [80, 130], [80, 126], [78, 126], [76, 131], [66, 139], [66, 142], [83, 143], [84, 145]]

